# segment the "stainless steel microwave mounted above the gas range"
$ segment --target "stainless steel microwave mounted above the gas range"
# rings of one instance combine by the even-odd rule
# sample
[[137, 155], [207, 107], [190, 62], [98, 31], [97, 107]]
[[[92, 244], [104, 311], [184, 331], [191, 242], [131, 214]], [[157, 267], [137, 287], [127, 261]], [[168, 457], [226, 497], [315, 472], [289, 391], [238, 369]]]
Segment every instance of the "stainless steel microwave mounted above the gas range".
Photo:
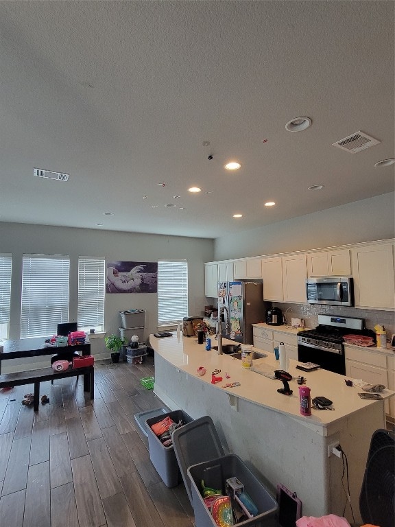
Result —
[[354, 305], [352, 278], [308, 278], [306, 295], [309, 304]]

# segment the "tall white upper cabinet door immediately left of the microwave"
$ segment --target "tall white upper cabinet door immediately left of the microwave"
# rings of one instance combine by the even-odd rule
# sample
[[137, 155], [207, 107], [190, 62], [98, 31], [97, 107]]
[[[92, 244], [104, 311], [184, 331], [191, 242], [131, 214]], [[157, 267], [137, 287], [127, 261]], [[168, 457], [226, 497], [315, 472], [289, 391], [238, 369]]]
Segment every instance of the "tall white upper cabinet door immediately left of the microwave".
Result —
[[306, 255], [283, 257], [283, 288], [286, 302], [306, 302], [306, 278]]

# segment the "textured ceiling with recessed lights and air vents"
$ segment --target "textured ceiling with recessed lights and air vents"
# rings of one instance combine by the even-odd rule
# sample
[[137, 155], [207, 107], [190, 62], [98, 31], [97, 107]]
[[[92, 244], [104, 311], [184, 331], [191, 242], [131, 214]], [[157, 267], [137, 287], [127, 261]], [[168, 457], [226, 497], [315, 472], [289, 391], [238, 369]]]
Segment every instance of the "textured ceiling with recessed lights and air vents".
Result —
[[394, 190], [393, 1], [1, 1], [0, 71], [0, 221], [219, 237]]

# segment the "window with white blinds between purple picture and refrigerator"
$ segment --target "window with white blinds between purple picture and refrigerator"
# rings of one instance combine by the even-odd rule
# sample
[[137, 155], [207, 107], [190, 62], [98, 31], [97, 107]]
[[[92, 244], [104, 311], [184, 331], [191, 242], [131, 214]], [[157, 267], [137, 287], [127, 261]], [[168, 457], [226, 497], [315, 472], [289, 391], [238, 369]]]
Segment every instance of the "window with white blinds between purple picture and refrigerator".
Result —
[[158, 261], [158, 325], [180, 322], [188, 316], [187, 261]]

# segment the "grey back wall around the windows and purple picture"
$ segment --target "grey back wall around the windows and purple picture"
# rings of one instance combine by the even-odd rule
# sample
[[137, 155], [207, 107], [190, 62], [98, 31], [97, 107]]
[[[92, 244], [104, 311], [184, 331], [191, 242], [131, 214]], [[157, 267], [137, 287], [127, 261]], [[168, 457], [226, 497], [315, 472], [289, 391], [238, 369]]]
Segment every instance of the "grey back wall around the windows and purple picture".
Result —
[[[78, 211], [71, 211], [77, 214]], [[0, 222], [0, 253], [12, 253], [12, 298], [10, 338], [19, 338], [21, 318], [21, 272], [23, 254], [70, 255], [69, 320], [77, 320], [77, 262], [79, 256], [105, 257], [106, 261], [158, 261], [187, 259], [189, 274], [189, 315], [203, 313], [204, 261], [214, 258], [213, 240], [141, 233], [117, 233]], [[157, 330], [158, 295], [106, 294], [107, 333], [118, 333], [119, 311], [145, 309], [149, 333]]]

